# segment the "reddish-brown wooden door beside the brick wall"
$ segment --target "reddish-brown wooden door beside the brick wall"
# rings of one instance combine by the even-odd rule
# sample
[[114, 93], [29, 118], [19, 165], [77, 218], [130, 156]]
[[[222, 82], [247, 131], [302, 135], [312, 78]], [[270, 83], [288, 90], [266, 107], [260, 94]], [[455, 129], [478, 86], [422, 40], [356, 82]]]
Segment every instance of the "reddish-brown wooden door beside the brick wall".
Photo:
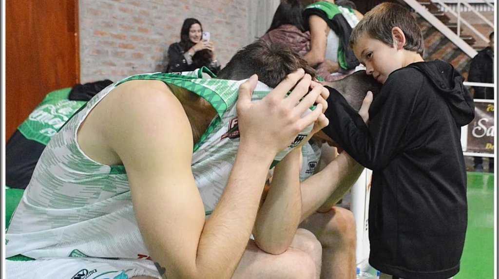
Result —
[[5, 139], [50, 91], [79, 82], [78, 0], [5, 1]]

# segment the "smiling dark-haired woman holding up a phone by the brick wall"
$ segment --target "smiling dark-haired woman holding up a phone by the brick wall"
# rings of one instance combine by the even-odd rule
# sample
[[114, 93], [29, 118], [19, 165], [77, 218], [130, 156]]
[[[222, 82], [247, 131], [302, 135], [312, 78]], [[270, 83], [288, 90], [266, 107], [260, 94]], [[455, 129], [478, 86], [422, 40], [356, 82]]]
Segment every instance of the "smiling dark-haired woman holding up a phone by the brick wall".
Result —
[[203, 66], [208, 67], [214, 74], [220, 71], [215, 44], [210, 41], [209, 33], [203, 32], [199, 20], [186, 18], [180, 31], [180, 42], [173, 43], [168, 48], [166, 72], [193, 71]]

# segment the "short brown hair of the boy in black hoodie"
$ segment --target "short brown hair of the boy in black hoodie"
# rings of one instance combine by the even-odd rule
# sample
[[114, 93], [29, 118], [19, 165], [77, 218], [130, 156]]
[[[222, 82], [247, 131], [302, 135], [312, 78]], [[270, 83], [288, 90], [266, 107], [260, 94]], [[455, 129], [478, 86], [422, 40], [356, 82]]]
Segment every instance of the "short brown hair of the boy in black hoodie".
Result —
[[392, 28], [399, 27], [406, 37], [404, 49], [423, 56], [425, 44], [423, 33], [411, 12], [400, 4], [384, 2], [368, 11], [355, 26], [350, 36], [352, 48], [364, 35], [393, 46]]

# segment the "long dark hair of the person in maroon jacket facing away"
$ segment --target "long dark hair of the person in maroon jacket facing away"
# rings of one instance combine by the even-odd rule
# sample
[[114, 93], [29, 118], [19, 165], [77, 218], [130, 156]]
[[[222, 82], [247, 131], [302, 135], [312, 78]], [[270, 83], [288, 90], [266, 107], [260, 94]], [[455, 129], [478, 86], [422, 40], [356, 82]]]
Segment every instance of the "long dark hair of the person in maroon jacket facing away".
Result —
[[266, 33], [284, 24], [294, 25], [305, 32], [306, 28], [302, 15], [303, 8], [304, 5], [301, 0], [282, 0], [274, 13], [272, 23], [270, 23], [270, 28], [268, 28]]

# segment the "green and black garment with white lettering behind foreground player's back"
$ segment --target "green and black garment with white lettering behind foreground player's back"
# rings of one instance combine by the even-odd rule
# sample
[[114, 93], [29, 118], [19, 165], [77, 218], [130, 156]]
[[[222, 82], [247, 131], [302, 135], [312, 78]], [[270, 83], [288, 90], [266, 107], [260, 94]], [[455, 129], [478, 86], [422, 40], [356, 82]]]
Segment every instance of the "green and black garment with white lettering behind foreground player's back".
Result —
[[71, 116], [112, 81], [78, 84], [48, 93], [5, 144], [5, 184], [25, 189], [50, 138]]

